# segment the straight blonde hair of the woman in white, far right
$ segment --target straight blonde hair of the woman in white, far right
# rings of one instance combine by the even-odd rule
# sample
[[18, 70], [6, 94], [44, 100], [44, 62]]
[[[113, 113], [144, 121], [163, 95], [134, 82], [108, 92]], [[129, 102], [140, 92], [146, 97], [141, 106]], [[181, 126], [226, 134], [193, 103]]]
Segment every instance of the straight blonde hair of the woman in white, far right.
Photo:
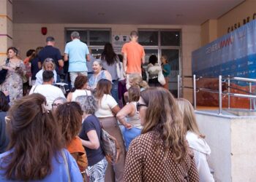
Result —
[[184, 98], [177, 99], [178, 108], [181, 111], [181, 116], [183, 117], [184, 124], [184, 132], [185, 135], [187, 131], [195, 132], [201, 138], [205, 138], [205, 136], [200, 133], [200, 130], [197, 126], [197, 120], [195, 119], [195, 111], [189, 100]]

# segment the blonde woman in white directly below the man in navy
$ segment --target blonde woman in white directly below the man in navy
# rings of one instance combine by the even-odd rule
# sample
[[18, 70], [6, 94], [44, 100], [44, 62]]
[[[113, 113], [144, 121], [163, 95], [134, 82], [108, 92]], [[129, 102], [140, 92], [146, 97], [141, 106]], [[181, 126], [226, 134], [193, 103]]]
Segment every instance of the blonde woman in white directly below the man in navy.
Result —
[[46, 58], [44, 63], [42, 63], [42, 69], [40, 71], [38, 71], [38, 73], [36, 74], [36, 85], [38, 84], [42, 84], [42, 73], [44, 71], [53, 71], [54, 74], [54, 83], [56, 83], [57, 81], [57, 72], [55, 71], [55, 63], [54, 60], [52, 58]]

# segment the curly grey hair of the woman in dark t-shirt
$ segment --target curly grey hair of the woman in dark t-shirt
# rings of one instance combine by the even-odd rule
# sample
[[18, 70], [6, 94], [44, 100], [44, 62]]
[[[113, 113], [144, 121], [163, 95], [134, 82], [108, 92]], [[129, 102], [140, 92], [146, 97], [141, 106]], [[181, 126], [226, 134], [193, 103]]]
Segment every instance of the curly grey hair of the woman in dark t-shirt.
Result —
[[94, 114], [97, 111], [97, 101], [94, 96], [81, 95], [75, 98], [75, 101], [80, 103], [82, 110], [86, 114]]

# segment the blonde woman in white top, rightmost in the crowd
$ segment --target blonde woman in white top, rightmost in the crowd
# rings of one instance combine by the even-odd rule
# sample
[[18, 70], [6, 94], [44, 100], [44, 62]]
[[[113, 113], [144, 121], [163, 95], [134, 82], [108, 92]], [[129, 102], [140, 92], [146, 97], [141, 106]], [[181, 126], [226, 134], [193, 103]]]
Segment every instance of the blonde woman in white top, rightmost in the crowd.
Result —
[[189, 147], [195, 154], [195, 165], [197, 165], [200, 181], [214, 181], [207, 162], [207, 157], [211, 154], [211, 149], [204, 140], [205, 136], [198, 129], [194, 108], [189, 103], [189, 100], [184, 98], [177, 99], [177, 103], [183, 116], [186, 139]]

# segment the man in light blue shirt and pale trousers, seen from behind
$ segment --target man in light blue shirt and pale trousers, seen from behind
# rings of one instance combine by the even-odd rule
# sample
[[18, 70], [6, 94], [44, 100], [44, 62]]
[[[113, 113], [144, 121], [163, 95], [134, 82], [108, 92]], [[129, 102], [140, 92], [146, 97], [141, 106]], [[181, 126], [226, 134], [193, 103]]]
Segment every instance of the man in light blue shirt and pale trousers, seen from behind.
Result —
[[69, 75], [71, 85], [74, 87], [75, 78], [82, 74], [87, 76], [88, 68], [86, 66], [86, 60], [90, 60], [90, 53], [87, 45], [80, 41], [80, 36], [77, 31], [71, 33], [71, 39], [66, 44], [64, 60], [69, 60]]

